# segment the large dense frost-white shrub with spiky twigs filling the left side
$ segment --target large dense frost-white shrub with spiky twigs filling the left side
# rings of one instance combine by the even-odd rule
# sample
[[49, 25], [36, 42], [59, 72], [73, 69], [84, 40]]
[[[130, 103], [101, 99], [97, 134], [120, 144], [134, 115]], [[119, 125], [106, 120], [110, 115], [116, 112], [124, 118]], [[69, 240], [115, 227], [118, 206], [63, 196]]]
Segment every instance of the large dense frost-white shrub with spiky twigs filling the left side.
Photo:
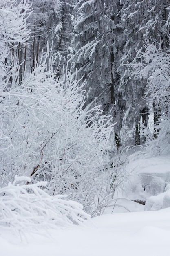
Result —
[[[24, 43], [29, 31], [21, 30]], [[21, 79], [18, 62], [12, 57], [7, 64], [2, 52], [0, 187], [15, 175], [31, 176], [46, 181], [50, 195], [67, 194], [96, 214], [121, 177], [113, 164], [113, 124], [100, 106], [85, 108], [84, 83], [68, 70], [59, 79], [51, 56], [47, 49]]]

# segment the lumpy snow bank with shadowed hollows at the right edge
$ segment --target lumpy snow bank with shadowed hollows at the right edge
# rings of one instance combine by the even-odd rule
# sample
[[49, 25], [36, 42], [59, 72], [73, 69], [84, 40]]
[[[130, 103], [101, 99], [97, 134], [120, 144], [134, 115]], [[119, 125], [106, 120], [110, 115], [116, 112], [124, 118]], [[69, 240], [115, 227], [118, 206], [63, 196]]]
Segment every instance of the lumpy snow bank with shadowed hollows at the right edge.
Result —
[[170, 207], [170, 156], [131, 160], [126, 168], [130, 175], [123, 196], [146, 201], [144, 211]]

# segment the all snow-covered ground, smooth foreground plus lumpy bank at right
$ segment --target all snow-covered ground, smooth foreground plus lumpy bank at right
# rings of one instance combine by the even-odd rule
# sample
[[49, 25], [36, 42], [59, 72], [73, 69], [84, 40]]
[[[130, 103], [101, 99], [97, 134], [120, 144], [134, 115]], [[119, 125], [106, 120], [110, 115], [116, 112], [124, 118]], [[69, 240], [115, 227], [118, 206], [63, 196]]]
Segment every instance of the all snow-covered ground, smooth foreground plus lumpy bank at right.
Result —
[[118, 199], [114, 211], [106, 209], [84, 227], [16, 231], [0, 226], [0, 256], [170, 255], [170, 157], [133, 159], [126, 168], [131, 175], [119, 195], [130, 200]]

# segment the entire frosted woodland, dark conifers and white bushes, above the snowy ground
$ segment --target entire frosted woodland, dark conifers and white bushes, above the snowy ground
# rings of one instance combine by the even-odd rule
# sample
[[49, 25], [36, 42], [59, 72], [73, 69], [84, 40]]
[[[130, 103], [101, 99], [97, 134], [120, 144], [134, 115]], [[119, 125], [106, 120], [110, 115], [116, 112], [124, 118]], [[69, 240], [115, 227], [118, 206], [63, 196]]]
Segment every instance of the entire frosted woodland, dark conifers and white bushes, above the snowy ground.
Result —
[[169, 149], [170, 1], [0, 0], [0, 17], [0, 186], [25, 175], [100, 214], [127, 147]]

